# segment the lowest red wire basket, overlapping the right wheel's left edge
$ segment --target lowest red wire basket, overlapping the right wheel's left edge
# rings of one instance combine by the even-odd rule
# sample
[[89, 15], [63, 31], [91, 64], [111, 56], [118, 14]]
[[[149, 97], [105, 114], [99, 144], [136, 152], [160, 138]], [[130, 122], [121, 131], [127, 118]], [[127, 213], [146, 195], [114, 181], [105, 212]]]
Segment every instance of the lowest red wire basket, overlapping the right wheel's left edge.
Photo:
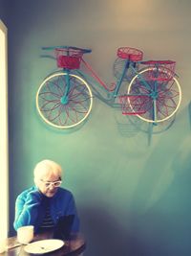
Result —
[[148, 110], [148, 96], [122, 95], [118, 98], [123, 115], [142, 115]]

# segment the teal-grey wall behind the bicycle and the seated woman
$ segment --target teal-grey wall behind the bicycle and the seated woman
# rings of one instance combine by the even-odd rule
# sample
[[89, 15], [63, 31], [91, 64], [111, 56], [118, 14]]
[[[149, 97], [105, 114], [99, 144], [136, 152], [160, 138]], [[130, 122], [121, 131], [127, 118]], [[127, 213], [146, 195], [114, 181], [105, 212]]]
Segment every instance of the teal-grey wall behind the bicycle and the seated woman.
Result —
[[[189, 0], [10, 1], [11, 224], [35, 163], [50, 158], [74, 193], [85, 255], [191, 255], [190, 9]], [[119, 46], [177, 60], [183, 99], [173, 126], [149, 142], [145, 124], [98, 99], [79, 129], [45, 125], [35, 94], [55, 65], [40, 48], [59, 44], [92, 48], [87, 59], [104, 81], [113, 80]]]

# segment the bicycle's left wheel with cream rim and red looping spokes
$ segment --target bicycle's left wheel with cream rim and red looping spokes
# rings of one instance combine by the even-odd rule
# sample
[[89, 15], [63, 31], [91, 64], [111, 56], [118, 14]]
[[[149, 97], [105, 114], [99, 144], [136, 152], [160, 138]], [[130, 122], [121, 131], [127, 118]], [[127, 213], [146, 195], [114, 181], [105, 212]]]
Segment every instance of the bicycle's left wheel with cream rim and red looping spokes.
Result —
[[[69, 76], [69, 77], [68, 77]], [[67, 103], [61, 99], [68, 90]], [[45, 79], [36, 94], [36, 107], [41, 118], [54, 128], [74, 128], [90, 114], [93, 94], [86, 81], [65, 72], [55, 73]]]

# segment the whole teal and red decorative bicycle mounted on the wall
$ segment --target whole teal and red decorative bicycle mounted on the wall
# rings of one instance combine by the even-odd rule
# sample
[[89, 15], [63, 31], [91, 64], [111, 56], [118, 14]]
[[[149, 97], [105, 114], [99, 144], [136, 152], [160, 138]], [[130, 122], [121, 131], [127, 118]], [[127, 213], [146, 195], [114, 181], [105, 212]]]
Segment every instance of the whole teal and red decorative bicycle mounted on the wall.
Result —
[[[114, 68], [117, 82], [108, 86], [83, 58], [91, 49], [72, 46], [42, 49], [54, 52], [58, 70], [40, 84], [36, 107], [41, 118], [54, 128], [74, 128], [89, 116], [97, 84], [107, 92], [107, 98], [101, 97], [105, 102], [120, 105], [123, 115], [135, 115], [155, 126], [175, 116], [180, 107], [181, 88], [173, 60], [142, 60], [140, 50], [120, 47]], [[81, 64], [86, 72], [80, 68]], [[125, 90], [121, 92], [124, 83]]]

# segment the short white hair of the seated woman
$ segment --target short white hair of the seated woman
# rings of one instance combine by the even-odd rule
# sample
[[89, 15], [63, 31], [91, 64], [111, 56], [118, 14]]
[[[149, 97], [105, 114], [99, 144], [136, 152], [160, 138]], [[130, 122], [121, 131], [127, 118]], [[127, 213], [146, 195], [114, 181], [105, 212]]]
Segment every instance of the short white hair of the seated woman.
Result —
[[52, 160], [42, 160], [36, 164], [33, 170], [34, 181], [40, 179], [43, 175], [58, 175], [61, 179], [62, 168]]

